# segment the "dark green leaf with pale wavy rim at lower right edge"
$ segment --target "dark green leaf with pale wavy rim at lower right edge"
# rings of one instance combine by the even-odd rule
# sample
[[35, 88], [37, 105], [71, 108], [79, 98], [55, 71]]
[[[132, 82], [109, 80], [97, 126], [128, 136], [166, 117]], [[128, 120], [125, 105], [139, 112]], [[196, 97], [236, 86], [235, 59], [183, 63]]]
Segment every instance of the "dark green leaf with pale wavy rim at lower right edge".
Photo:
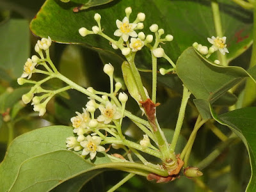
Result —
[[256, 108], [242, 108], [216, 115], [214, 110], [211, 108], [211, 113], [214, 119], [222, 125], [227, 125], [233, 132], [243, 140], [246, 146], [249, 156], [250, 164], [252, 169], [252, 176], [247, 186], [246, 191], [256, 190], [256, 141], [255, 141], [255, 130], [256, 130]]

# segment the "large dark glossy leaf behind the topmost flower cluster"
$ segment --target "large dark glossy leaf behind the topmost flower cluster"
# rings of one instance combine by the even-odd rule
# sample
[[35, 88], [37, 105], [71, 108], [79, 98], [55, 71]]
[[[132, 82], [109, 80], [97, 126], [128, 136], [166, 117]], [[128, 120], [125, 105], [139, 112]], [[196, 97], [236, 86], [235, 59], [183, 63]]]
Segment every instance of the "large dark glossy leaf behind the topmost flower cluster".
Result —
[[[252, 13], [242, 10], [232, 2], [227, 3], [224, 0], [220, 2], [223, 33], [227, 36], [228, 49], [231, 52], [227, 56], [232, 59], [241, 54], [252, 43], [252, 35], [250, 35]], [[78, 29], [83, 26], [88, 29], [95, 26], [96, 22], [93, 20], [93, 15], [99, 12], [102, 15], [101, 22], [104, 33], [113, 36], [116, 30], [115, 20], [122, 20], [125, 16], [124, 9], [127, 6], [132, 6], [134, 14], [131, 15], [131, 20], [135, 19], [138, 12], [146, 13], [147, 19], [144, 22], [145, 29], [143, 31], [147, 34], [149, 32], [148, 27], [157, 23], [160, 28], [164, 28], [166, 33], [174, 35], [173, 42], [162, 45], [173, 60], [177, 60], [180, 51], [184, 51], [193, 42], [211, 45], [207, 42], [207, 37], [216, 36], [210, 1], [141, 0], [135, 2], [126, 0], [117, 3], [114, 1], [84, 12], [72, 12], [74, 7], [83, 3], [83, 0], [74, 0], [68, 4], [47, 0], [35, 19], [32, 20], [31, 30], [35, 35], [41, 37], [51, 36], [52, 40], [56, 42], [85, 44], [122, 56], [120, 51], [114, 51], [106, 40], [97, 35], [88, 35], [83, 38], [79, 35]], [[192, 17], [193, 20], [191, 20]], [[149, 56], [148, 52], [147, 56]], [[141, 63], [143, 62], [142, 59], [144, 59], [143, 56], [138, 56]], [[145, 65], [145, 63], [143, 64]]]

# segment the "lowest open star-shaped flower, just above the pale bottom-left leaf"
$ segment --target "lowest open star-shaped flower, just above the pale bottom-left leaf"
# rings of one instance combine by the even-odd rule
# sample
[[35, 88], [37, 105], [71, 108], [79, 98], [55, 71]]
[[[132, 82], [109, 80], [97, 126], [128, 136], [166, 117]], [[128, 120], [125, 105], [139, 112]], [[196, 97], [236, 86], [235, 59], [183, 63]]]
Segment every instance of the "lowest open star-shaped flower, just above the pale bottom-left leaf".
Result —
[[92, 160], [97, 152], [102, 152], [105, 150], [104, 147], [100, 146], [101, 138], [99, 136], [86, 136], [86, 141], [82, 141], [80, 145], [84, 147], [82, 156], [87, 156], [90, 154], [90, 159]]

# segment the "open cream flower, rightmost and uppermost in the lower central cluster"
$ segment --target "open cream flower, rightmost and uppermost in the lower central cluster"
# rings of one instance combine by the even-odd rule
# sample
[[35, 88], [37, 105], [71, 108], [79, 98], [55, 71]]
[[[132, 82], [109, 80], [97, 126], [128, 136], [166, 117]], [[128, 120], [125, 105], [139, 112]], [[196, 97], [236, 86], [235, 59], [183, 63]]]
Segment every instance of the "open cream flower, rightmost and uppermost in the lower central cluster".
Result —
[[122, 115], [116, 111], [116, 105], [111, 104], [111, 102], [106, 102], [106, 108], [104, 106], [99, 106], [102, 115], [98, 116], [97, 120], [99, 122], [104, 122], [104, 124], [109, 124], [112, 120], [116, 120], [122, 117]]

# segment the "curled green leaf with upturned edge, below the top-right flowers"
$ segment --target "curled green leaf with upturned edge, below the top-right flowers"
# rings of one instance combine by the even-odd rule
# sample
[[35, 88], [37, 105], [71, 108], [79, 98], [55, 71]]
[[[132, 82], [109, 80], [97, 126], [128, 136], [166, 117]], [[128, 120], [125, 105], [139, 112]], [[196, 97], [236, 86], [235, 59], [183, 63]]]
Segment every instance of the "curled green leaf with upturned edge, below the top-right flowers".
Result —
[[204, 99], [211, 104], [244, 77], [250, 77], [241, 67], [214, 65], [199, 56], [193, 47], [181, 54], [177, 61], [177, 74], [196, 99]]

